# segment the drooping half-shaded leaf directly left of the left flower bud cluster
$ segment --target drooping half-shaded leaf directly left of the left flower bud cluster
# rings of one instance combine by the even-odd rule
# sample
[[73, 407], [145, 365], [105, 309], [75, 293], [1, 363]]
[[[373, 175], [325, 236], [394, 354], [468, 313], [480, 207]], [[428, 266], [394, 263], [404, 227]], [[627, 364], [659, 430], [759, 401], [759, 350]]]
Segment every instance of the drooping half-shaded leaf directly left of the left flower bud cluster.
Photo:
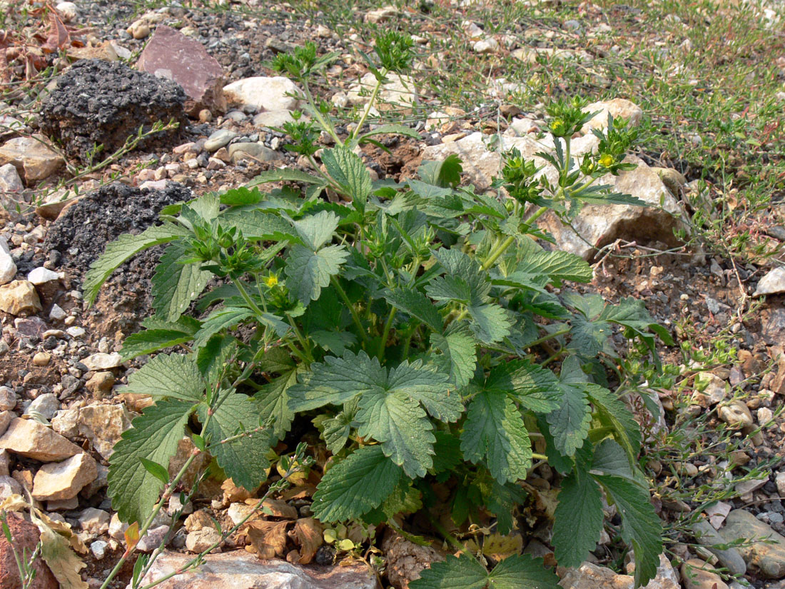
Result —
[[172, 243], [166, 247], [152, 277], [155, 314], [167, 321], [177, 321], [188, 305], [202, 294], [212, 273], [199, 269], [199, 264], [181, 264], [188, 247]]

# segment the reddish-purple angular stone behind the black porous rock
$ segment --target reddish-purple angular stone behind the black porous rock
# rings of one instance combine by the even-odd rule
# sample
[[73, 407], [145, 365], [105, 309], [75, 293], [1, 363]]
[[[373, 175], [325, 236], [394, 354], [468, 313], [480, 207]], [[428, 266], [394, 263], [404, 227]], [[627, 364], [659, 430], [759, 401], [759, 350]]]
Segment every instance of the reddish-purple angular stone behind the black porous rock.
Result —
[[137, 61], [137, 69], [180, 84], [188, 97], [184, 105], [188, 115], [199, 115], [203, 108], [226, 112], [224, 68], [202, 43], [172, 27], [159, 24]]

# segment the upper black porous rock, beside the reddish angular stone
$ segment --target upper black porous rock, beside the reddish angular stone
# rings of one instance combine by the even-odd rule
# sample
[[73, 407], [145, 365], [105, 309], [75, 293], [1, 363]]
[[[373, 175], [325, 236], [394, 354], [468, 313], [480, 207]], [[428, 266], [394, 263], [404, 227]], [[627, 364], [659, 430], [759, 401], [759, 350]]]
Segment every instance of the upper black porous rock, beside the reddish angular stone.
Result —
[[[106, 157], [140, 127], [150, 130], [153, 123], [173, 119], [183, 128], [188, 123], [184, 101], [175, 82], [120, 62], [81, 60], [57, 78], [57, 87], [44, 100], [41, 129], [71, 157], [85, 161], [96, 144], [104, 146], [101, 156]], [[157, 134], [144, 145], [162, 139]]]

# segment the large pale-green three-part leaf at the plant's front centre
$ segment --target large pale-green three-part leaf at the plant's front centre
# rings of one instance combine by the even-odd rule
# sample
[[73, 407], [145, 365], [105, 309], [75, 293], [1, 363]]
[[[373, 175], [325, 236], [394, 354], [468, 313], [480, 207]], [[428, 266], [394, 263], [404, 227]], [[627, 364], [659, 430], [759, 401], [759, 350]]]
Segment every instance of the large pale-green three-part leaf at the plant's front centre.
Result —
[[[301, 383], [290, 387], [292, 411], [308, 411], [326, 404], [342, 405], [357, 397], [358, 434], [382, 443], [382, 450], [410, 477], [423, 477], [433, 466], [433, 425], [422, 407], [442, 421], [455, 421], [463, 406], [448, 377], [407, 361], [387, 371], [365, 352], [327, 357], [312, 364]], [[422, 404], [422, 407], [421, 407]]]

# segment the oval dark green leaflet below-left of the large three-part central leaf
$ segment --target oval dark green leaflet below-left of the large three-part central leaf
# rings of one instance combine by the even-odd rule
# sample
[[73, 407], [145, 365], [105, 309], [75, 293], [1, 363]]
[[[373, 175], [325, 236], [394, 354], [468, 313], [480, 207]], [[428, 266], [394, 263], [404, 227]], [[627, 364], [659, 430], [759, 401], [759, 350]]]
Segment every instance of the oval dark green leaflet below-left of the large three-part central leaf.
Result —
[[402, 474], [381, 446], [363, 446], [324, 474], [313, 495], [313, 514], [327, 522], [359, 518], [382, 504]]

